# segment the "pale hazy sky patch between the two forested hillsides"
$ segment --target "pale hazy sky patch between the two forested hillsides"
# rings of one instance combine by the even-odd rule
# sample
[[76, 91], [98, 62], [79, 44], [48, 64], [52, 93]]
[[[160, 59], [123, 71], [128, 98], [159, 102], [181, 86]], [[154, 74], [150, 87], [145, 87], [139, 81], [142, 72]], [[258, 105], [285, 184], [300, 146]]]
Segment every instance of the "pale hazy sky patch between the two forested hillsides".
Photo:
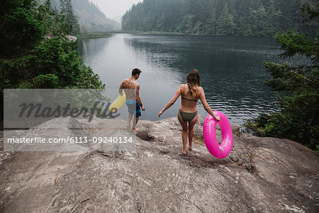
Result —
[[99, 6], [99, 9], [108, 18], [123, 16], [132, 4], [138, 4], [142, 0], [90, 0]]

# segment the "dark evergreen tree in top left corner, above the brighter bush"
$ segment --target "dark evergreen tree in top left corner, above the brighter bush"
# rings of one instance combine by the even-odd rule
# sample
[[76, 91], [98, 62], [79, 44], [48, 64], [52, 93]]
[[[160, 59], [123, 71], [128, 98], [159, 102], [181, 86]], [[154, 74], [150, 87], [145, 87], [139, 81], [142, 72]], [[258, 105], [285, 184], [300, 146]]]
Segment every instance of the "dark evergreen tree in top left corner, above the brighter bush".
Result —
[[1, 1], [1, 58], [23, 55], [44, 37], [45, 27], [35, 13], [35, 6], [32, 0]]

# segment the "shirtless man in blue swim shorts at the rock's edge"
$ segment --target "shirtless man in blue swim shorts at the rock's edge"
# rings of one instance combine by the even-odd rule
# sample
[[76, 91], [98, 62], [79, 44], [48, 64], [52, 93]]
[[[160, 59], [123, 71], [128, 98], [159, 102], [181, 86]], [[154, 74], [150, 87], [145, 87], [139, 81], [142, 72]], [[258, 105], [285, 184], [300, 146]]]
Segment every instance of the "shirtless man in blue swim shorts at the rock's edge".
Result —
[[136, 124], [138, 124], [138, 117], [141, 116], [140, 108], [142, 108], [142, 111], [145, 111], [145, 107], [143, 107], [142, 101], [140, 100], [140, 84], [136, 82], [138, 77], [140, 77], [141, 72], [142, 71], [140, 71], [138, 68], [132, 70], [132, 76], [123, 80], [120, 85], [120, 89], [118, 89], [120, 94], [123, 94], [123, 89], [125, 90], [126, 105], [128, 106], [128, 128], [130, 128], [130, 121], [133, 118], [133, 114], [135, 115], [135, 119], [133, 119], [132, 131], [139, 131], [139, 129], [136, 128]]

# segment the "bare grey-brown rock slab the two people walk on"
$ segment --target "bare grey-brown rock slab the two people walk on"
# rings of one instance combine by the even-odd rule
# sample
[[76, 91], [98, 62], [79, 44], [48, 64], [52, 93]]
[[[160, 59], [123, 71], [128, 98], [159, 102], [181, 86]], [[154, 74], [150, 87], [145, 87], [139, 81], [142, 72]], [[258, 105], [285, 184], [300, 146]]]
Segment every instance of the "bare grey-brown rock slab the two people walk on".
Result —
[[[313, 151], [286, 139], [245, 135], [233, 124], [233, 150], [220, 160], [203, 143], [203, 119], [185, 156], [176, 118], [140, 121], [130, 152], [0, 151], [0, 212], [319, 211]], [[77, 136], [69, 126], [76, 124], [89, 136], [111, 122], [67, 118], [41, 127], [58, 124]]]

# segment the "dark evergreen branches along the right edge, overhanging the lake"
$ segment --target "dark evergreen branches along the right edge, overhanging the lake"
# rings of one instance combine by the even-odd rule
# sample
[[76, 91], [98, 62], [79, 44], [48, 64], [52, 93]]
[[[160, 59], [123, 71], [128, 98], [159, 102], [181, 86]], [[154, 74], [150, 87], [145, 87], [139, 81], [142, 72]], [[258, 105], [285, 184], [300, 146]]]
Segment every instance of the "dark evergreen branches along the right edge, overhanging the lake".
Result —
[[[310, 8], [306, 5], [303, 9]], [[304, 15], [306, 16], [306, 12]], [[310, 12], [309, 18], [319, 21], [318, 8], [314, 13]], [[264, 62], [266, 70], [272, 75], [272, 79], [267, 80], [267, 85], [287, 96], [279, 96], [281, 111], [261, 114], [255, 121], [248, 121], [245, 126], [262, 136], [291, 138], [319, 153], [318, 35], [312, 39], [306, 33], [295, 34], [289, 31], [279, 33], [275, 38], [285, 50], [281, 57], [303, 55], [310, 62], [301, 65]]]

